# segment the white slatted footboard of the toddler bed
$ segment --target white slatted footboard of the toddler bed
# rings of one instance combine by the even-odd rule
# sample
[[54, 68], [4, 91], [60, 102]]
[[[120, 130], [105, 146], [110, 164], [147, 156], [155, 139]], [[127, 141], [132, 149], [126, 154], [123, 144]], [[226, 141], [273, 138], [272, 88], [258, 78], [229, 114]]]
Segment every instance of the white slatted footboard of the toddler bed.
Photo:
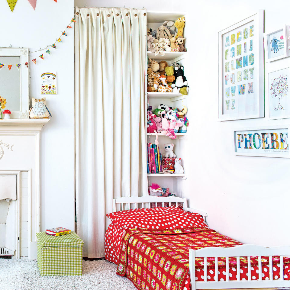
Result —
[[[251, 280], [251, 256], [258, 256], [259, 279]], [[269, 280], [262, 280], [261, 256], [269, 257]], [[280, 277], [273, 279], [272, 256], [280, 256]], [[255, 245], [240, 245], [230, 248], [207, 247], [189, 250], [189, 273], [192, 290], [195, 289], [239, 289], [239, 288], [273, 288], [290, 287], [290, 281], [284, 280], [283, 257], [290, 256], [290, 247], [266, 248]], [[215, 281], [207, 281], [207, 258], [214, 257]], [[218, 258], [224, 257], [226, 263], [226, 281], [218, 281]], [[229, 280], [229, 257], [237, 258], [237, 281]], [[240, 280], [240, 257], [248, 257], [248, 280]], [[204, 259], [204, 281], [195, 281], [195, 258]], [[271, 275], [272, 274], [272, 275]]]

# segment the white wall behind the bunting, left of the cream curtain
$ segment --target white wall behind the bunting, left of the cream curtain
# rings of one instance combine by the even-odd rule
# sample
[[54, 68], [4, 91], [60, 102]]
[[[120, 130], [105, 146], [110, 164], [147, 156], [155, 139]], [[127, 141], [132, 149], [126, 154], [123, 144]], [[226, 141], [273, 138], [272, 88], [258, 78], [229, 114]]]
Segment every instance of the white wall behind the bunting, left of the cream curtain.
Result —
[[[6, 1], [0, 4], [1, 47], [39, 50], [58, 38], [74, 15], [73, 0], [37, 1], [35, 11], [21, 0], [13, 13]], [[73, 26], [73, 25], [71, 25]], [[40, 74], [57, 71], [57, 95], [47, 95], [53, 117], [40, 133], [40, 230], [62, 226], [74, 229], [74, 29], [63, 43], [31, 53], [30, 96], [40, 97]], [[44, 60], [39, 58], [43, 53]], [[1, 77], [1, 72], [0, 72]], [[9, 108], [9, 104], [7, 104]], [[23, 152], [25, 154], [25, 152]]]

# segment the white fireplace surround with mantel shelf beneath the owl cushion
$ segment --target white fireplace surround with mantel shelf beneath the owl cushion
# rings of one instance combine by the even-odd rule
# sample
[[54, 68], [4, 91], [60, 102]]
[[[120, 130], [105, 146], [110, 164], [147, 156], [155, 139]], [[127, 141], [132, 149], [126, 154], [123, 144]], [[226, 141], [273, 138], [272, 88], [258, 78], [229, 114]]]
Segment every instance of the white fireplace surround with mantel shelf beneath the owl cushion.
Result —
[[[40, 230], [40, 131], [49, 119], [0, 119], [0, 174], [28, 172], [27, 185], [18, 188], [18, 199], [23, 198], [19, 208], [28, 214], [28, 221], [20, 221], [27, 229], [18, 230], [18, 238], [27, 244], [21, 246], [21, 257], [36, 259], [36, 233]], [[21, 174], [20, 174], [21, 175]], [[26, 181], [25, 181], [26, 182]], [[21, 196], [25, 186], [27, 197]], [[21, 200], [20, 200], [21, 203]], [[18, 213], [19, 214], [19, 213]], [[21, 216], [21, 213], [20, 213]], [[18, 253], [20, 256], [20, 253]]]

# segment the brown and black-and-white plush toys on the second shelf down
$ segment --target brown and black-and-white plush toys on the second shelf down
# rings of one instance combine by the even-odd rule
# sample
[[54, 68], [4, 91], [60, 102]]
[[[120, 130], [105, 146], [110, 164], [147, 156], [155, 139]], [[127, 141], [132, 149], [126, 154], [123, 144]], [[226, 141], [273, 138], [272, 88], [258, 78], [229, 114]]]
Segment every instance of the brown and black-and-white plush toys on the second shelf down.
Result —
[[[181, 38], [177, 38], [176, 41], [178, 39]], [[173, 92], [187, 95], [188, 89], [182, 65], [175, 63], [169, 66], [165, 60], [158, 63], [156, 60], [148, 59], [148, 92]]]

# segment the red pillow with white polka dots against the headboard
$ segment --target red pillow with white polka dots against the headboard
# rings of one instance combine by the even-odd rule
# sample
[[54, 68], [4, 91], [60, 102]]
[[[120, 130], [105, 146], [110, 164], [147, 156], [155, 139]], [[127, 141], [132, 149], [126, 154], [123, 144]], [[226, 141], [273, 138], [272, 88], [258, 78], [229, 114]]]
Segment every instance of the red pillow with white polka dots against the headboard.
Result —
[[117, 211], [107, 217], [118, 227], [172, 229], [185, 227], [207, 227], [200, 214], [185, 212], [180, 208], [138, 208]]

